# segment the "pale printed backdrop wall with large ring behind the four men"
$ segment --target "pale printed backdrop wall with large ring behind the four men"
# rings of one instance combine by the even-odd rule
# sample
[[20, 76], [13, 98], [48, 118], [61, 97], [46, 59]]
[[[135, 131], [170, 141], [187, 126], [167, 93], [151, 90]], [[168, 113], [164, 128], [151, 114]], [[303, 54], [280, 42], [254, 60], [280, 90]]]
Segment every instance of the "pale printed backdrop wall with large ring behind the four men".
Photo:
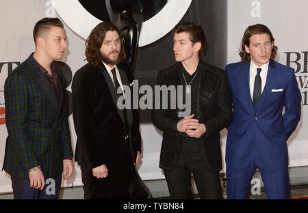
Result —
[[[85, 8], [80, 8], [81, 1], [65, 0], [66, 7], [62, 7], [61, 2], [63, 5], [63, 0], [0, 0], [1, 168], [5, 139], [8, 136], [5, 127], [4, 83], [8, 74], [34, 52], [32, 33], [35, 23], [45, 16], [58, 17], [64, 22], [68, 49], [62, 61], [58, 63], [62, 66], [68, 81], [66, 88], [68, 94], [71, 91], [71, 81], [75, 72], [87, 63], [84, 55], [84, 38], [101, 20], [97, 18], [99, 16], [94, 16]], [[76, 8], [75, 5], [78, 7]], [[117, 14], [110, 10], [110, 1], [106, 0], [105, 5], [107, 5], [110, 20], [115, 20]], [[220, 68], [224, 68], [227, 63], [240, 61], [238, 51], [242, 35], [248, 25], [255, 23], [267, 25], [274, 34], [276, 45], [279, 47], [277, 61], [296, 70], [298, 86], [303, 97], [302, 119], [296, 132], [287, 141], [290, 167], [308, 165], [308, 42], [305, 40], [308, 34], [308, 25], [305, 22], [307, 8], [307, 0], [169, 0], [161, 14], [153, 19], [150, 18], [148, 22], [139, 21], [143, 31], [140, 31], [140, 46], [142, 47], [139, 48], [136, 59], [136, 76], [140, 85], [154, 85], [158, 70], [175, 63], [170, 29], [181, 19], [195, 22], [203, 27], [208, 43], [205, 60]], [[155, 25], [155, 22], [159, 25]], [[151, 44], [151, 42], [154, 43]], [[151, 124], [149, 113], [150, 111], [141, 111], [140, 132], [143, 158], [138, 169], [143, 180], [157, 180], [164, 178], [164, 174], [158, 167], [162, 132]], [[77, 137], [72, 115], [69, 116], [69, 123], [72, 146], [75, 151]], [[222, 154], [224, 154], [227, 130], [222, 130], [221, 135]], [[64, 182], [63, 186], [72, 186], [72, 184], [82, 185], [81, 172], [77, 164], [75, 164], [73, 177]], [[8, 192], [12, 192], [10, 175], [1, 171], [0, 193]]]

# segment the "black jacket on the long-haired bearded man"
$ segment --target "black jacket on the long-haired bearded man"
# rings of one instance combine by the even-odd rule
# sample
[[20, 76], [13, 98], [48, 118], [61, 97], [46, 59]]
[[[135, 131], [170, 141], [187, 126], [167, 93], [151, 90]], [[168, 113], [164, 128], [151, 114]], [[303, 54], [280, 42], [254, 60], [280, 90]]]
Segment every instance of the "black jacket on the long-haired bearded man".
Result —
[[[129, 86], [133, 81], [131, 66], [120, 63], [118, 70], [123, 85]], [[72, 94], [77, 134], [75, 160], [79, 165], [93, 169], [105, 164], [109, 171], [120, 169], [117, 160], [124, 152], [127, 132], [131, 155], [136, 160], [137, 151], [141, 152], [138, 111], [127, 109], [125, 125], [123, 113], [116, 105], [116, 89], [103, 63], [97, 67], [87, 63], [77, 70]]]

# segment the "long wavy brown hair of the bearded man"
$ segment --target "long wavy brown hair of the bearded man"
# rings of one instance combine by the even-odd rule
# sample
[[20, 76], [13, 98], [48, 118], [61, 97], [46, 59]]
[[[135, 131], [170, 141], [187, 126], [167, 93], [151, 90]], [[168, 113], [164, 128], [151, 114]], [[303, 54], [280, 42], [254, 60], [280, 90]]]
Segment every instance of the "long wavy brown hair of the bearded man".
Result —
[[[92, 29], [88, 39], [86, 40], [86, 60], [92, 63], [93, 66], [98, 66], [101, 63], [101, 52], [99, 49], [103, 44], [103, 40], [105, 39], [105, 35], [107, 31], [117, 31], [120, 36], [120, 31], [116, 25], [103, 21]], [[123, 42], [121, 40], [121, 50], [120, 50], [120, 62], [125, 61], [126, 54]]]

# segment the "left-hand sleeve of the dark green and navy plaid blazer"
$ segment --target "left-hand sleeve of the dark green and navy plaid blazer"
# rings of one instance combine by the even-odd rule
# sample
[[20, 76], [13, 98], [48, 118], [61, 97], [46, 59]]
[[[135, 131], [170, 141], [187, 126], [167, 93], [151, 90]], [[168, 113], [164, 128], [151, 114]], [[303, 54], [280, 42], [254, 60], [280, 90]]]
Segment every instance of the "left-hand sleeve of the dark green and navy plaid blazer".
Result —
[[5, 81], [5, 122], [8, 129], [8, 143], [18, 157], [18, 163], [25, 170], [38, 166], [27, 132], [29, 96], [27, 83], [21, 74], [14, 71]]

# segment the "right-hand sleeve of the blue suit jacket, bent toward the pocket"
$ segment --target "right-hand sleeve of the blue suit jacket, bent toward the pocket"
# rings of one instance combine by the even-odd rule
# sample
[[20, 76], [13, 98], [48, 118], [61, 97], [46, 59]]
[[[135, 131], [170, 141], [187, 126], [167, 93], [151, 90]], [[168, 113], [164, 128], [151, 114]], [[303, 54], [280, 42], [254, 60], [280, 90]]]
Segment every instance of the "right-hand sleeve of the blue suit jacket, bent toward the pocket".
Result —
[[285, 132], [287, 133], [287, 138], [291, 136], [300, 121], [301, 100], [302, 96], [300, 94], [300, 90], [298, 89], [298, 84], [296, 82], [293, 70], [285, 92], [285, 114], [283, 115], [283, 126], [285, 128]]

